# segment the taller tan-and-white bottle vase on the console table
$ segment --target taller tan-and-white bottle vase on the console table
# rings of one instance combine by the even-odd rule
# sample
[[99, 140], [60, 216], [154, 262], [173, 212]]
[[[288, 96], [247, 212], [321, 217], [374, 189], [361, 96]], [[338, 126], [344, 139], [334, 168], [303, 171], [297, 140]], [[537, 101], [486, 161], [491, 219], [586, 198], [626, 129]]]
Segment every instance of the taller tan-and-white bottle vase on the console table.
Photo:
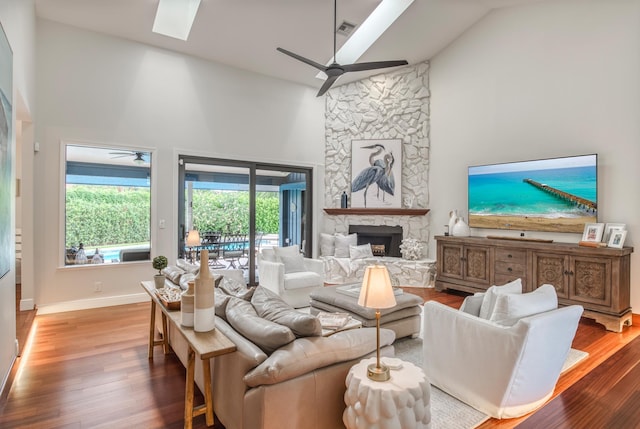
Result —
[[209, 251], [201, 251], [193, 300], [193, 330], [196, 332], [208, 332], [216, 327], [215, 286], [208, 262]]

